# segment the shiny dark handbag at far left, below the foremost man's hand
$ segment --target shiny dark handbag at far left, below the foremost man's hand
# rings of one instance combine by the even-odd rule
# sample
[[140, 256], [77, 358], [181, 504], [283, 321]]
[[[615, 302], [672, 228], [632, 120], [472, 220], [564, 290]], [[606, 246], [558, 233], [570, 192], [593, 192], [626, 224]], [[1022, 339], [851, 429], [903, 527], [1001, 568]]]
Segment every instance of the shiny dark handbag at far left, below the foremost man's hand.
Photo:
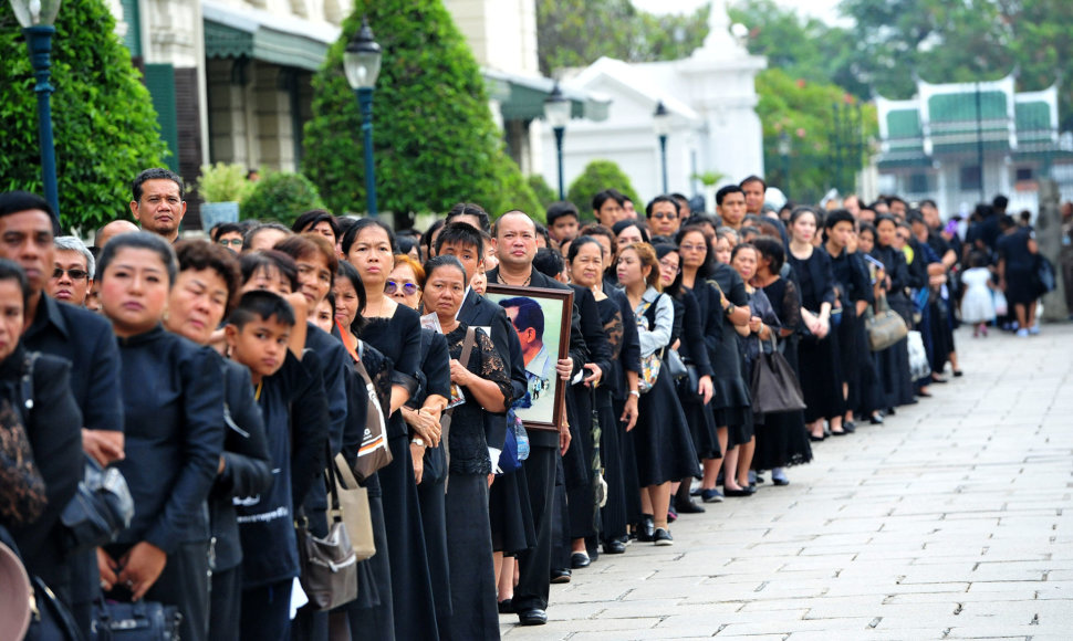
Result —
[[126, 479], [115, 467], [102, 467], [85, 458], [85, 476], [60, 513], [71, 550], [112, 543], [134, 518], [134, 498]]

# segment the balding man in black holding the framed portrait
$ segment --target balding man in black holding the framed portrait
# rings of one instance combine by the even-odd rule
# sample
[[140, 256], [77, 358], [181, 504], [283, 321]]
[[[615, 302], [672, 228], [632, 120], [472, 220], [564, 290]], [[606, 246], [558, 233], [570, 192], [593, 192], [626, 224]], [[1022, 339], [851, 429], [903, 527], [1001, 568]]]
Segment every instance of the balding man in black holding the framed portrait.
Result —
[[[496, 243], [499, 266], [488, 272], [488, 282], [522, 287], [566, 290], [567, 286], [533, 269], [536, 255], [536, 225], [521, 211], [509, 211], [496, 222]], [[560, 359], [556, 371], [566, 385], [588, 359], [581, 333], [576, 306], [571, 318], [570, 357]], [[529, 482], [529, 497], [536, 526], [536, 547], [519, 558], [521, 567], [512, 603], [523, 626], [541, 626], [548, 621], [548, 595], [551, 585], [552, 508], [555, 491], [558, 456], [570, 446], [570, 428], [560, 424], [559, 433], [530, 430], [530, 454], [524, 462]]]

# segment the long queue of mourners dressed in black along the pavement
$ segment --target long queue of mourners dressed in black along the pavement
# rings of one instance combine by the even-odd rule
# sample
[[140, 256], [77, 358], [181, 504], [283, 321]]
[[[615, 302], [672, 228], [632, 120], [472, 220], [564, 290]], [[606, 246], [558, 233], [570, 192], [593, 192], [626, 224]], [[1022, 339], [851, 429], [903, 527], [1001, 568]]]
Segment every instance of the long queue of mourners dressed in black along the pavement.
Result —
[[[756, 177], [717, 202], [711, 217], [660, 196], [628, 218], [607, 190], [598, 222], [556, 203], [546, 228], [459, 203], [399, 237], [310, 211], [180, 241], [183, 180], [149, 169], [140, 230], [116, 221], [91, 249], [54, 238], [43, 199], [0, 195], [0, 446], [28, 442], [0, 470], [0, 529], [82, 632], [131, 601], [174, 608], [195, 640], [542, 624], [550, 586], [601, 554], [674, 545], [680, 515], [747, 500], [764, 473], [786, 485], [813, 443], [930, 396], [948, 362], [960, 376], [960, 259], [915, 212], [872, 225], [803, 207], [783, 224]], [[563, 353], [488, 284], [570, 293]], [[887, 308], [923, 336], [923, 366], [911, 335], [869, 348]], [[796, 406], [757, 382], [773, 354]], [[563, 412], [527, 430], [518, 412], [549, 377]], [[389, 462], [361, 474], [375, 554], [325, 607], [296, 581], [305, 537], [335, 532], [325, 469], [357, 473], [377, 431]], [[100, 546], [61, 518], [83, 456], [134, 504]]]

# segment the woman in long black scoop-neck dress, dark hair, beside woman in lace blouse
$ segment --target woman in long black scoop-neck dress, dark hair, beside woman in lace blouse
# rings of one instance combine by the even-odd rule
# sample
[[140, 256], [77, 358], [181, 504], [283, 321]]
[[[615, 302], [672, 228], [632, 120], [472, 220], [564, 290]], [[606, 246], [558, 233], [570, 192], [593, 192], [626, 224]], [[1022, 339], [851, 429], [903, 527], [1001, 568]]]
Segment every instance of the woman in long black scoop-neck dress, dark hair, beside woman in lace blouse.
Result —
[[[373, 219], [357, 221], [343, 235], [343, 254], [357, 267], [365, 288], [365, 326], [360, 338], [395, 364], [387, 437], [392, 463], [378, 472], [390, 546], [395, 637], [438, 639], [420, 502], [410, 455], [409, 430], [399, 408], [416, 388], [420, 369], [421, 326], [417, 312], [384, 293], [395, 267], [395, 234]], [[437, 417], [438, 420], [439, 417]]]

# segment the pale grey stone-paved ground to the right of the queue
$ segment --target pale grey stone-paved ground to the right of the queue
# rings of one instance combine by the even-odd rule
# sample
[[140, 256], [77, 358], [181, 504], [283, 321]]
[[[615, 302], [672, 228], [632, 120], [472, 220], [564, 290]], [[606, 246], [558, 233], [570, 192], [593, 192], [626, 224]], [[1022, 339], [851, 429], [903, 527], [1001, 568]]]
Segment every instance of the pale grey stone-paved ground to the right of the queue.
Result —
[[524, 639], [1073, 639], [1073, 326], [957, 335], [963, 378], [552, 586]]

